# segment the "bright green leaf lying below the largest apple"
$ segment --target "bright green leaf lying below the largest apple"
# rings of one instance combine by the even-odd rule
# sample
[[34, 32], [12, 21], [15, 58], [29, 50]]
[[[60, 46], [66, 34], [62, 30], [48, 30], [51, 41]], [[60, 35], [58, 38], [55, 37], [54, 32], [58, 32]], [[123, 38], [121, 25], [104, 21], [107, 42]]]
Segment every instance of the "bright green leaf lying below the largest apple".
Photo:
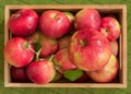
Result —
[[76, 70], [67, 70], [63, 72], [66, 79], [70, 81], [75, 81], [83, 75], [83, 71], [80, 69]]

